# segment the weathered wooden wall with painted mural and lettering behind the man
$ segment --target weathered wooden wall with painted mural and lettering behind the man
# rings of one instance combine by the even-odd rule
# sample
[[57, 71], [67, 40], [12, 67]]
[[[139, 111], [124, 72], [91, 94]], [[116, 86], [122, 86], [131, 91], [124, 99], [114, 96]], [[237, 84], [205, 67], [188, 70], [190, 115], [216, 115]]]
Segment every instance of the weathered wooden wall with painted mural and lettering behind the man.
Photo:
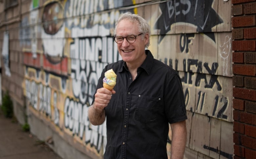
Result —
[[154, 57], [181, 76], [189, 117], [186, 147], [192, 150], [185, 158], [232, 158], [227, 8], [231, 3], [221, 0], [32, 0], [19, 31], [29, 109], [102, 157], [106, 125], [91, 125], [87, 110], [104, 66], [121, 59], [113, 29], [119, 15], [131, 11], [151, 25], [148, 49]]

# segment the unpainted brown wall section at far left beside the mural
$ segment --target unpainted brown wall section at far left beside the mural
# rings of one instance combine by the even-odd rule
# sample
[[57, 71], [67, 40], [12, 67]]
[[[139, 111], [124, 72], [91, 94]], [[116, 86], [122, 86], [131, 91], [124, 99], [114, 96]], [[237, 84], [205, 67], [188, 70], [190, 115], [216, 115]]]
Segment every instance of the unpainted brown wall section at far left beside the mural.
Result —
[[[14, 113], [21, 124], [25, 123], [26, 108], [24, 105], [24, 94], [22, 81], [24, 80], [23, 53], [19, 40], [19, 25], [21, 22], [21, 5], [11, 3], [14, 6], [5, 9], [4, 1], [0, 3], [0, 52], [2, 68], [2, 91], [9, 90], [13, 100]], [[4, 33], [8, 32], [8, 56], [3, 55]]]

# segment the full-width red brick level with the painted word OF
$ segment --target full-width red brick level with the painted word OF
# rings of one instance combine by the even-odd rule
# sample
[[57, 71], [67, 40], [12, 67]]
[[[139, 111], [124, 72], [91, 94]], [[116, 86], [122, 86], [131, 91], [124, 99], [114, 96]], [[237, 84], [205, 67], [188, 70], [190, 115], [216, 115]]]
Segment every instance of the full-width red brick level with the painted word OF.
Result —
[[256, 41], [255, 40], [232, 41], [232, 50], [234, 50], [234, 51], [256, 51]]

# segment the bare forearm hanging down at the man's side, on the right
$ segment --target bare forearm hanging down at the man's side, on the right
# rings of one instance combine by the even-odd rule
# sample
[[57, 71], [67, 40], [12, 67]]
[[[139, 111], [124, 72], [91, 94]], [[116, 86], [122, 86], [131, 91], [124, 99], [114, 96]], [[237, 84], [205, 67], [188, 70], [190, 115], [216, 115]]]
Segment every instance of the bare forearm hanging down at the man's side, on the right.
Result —
[[171, 159], [182, 159], [186, 146], [187, 130], [185, 122], [172, 129]]

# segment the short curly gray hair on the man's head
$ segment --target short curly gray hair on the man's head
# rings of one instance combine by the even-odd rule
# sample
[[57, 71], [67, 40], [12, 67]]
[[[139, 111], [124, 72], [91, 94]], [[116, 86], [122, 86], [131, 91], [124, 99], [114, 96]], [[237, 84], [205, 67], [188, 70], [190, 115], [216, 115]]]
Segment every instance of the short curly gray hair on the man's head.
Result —
[[115, 24], [115, 29], [114, 29], [114, 36], [117, 35], [117, 25], [120, 21], [122, 21], [123, 19], [128, 19], [131, 22], [138, 22], [138, 27], [139, 27], [139, 32], [143, 33], [142, 38], [144, 38], [145, 33], [148, 34], [148, 43], [146, 44], [145, 47], [148, 47], [150, 44], [150, 26], [147, 23], [147, 21], [145, 19], [143, 19], [141, 16], [137, 15], [137, 14], [132, 14], [131, 12], [126, 12], [121, 14], [121, 16], [119, 17], [119, 19], [117, 20], [116, 24]]

